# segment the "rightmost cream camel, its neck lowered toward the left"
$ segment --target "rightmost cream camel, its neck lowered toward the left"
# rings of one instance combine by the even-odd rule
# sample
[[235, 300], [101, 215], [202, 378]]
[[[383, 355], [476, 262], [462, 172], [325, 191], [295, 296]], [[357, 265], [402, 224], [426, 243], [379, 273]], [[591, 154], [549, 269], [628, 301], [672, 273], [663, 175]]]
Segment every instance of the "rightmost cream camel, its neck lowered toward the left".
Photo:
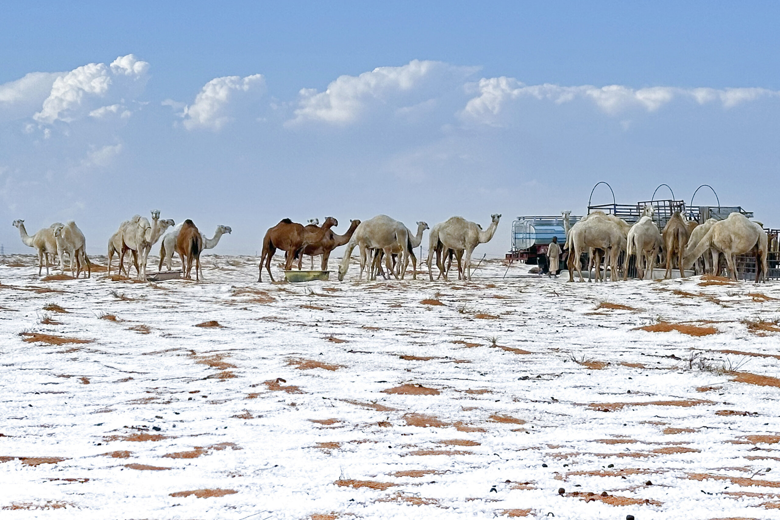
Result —
[[756, 282], [761, 278], [766, 281], [768, 272], [767, 253], [768, 236], [764, 228], [755, 222], [749, 221], [741, 213], [732, 213], [722, 221], [711, 225], [709, 231], [695, 246], [693, 243], [685, 249], [680, 261], [681, 269], [690, 268], [699, 256], [707, 249], [715, 249], [713, 265], [718, 265], [720, 253], [726, 257], [729, 266], [729, 278], [736, 281], [736, 256], [756, 253]]

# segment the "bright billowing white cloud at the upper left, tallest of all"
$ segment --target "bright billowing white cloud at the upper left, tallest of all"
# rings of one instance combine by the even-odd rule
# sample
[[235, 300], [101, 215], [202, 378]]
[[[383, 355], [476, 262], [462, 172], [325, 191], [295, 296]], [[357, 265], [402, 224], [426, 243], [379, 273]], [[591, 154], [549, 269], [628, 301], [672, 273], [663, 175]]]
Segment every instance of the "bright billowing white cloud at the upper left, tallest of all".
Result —
[[[134, 55], [120, 56], [111, 65], [89, 63], [58, 76], [41, 111], [33, 117], [41, 124], [73, 122], [94, 114], [107, 115], [112, 106], [133, 99], [144, 90], [149, 64]], [[105, 111], [101, 111], [105, 108]], [[129, 111], [122, 106], [123, 113]]]

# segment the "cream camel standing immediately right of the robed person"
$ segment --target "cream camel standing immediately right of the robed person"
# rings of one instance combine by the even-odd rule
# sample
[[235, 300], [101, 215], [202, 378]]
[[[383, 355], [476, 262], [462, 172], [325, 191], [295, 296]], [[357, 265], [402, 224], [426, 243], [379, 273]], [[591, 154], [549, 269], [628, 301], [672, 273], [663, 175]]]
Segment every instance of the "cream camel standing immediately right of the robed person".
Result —
[[[616, 280], [618, 272], [618, 256], [620, 251], [626, 245], [626, 235], [623, 232], [626, 224], [614, 215], [607, 215], [603, 211], [594, 211], [593, 213], [583, 217], [569, 230], [569, 236], [566, 238], [566, 248], [569, 249], [569, 259], [567, 260], [567, 267], [569, 269], [569, 281], [574, 281], [574, 264], [576, 263], [577, 273], [580, 275], [580, 281], [583, 281], [583, 275], [580, 265], [580, 256], [584, 251], [584, 248], [593, 249], [595, 254], [591, 254], [595, 261], [596, 266], [596, 280], [601, 279], [601, 260], [599, 258], [599, 249], [604, 251], [605, 255], [609, 255], [610, 269], [612, 270], [612, 279]], [[630, 229], [630, 228], [629, 228]], [[590, 269], [590, 262], [588, 264]], [[590, 281], [590, 278], [588, 278]]]

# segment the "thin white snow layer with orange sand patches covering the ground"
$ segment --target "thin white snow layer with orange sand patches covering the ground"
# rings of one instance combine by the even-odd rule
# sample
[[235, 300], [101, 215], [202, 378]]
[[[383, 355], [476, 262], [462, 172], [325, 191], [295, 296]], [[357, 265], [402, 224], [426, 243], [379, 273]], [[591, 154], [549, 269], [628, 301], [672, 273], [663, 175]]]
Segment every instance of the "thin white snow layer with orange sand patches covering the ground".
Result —
[[2, 518], [780, 518], [776, 282], [35, 264], [0, 264]]

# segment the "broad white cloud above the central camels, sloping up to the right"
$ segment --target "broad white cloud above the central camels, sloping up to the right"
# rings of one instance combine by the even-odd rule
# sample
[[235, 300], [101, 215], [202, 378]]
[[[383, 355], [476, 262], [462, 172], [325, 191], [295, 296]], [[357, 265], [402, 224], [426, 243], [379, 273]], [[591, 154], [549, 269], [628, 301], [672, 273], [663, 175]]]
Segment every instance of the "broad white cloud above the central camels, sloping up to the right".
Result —
[[477, 70], [444, 62], [413, 60], [399, 67], [378, 67], [360, 76], [339, 76], [324, 92], [300, 90], [299, 108], [291, 122], [321, 121], [343, 125], [355, 122], [371, 107], [390, 105], [402, 109], [419, 105], [460, 87], [463, 80]]

